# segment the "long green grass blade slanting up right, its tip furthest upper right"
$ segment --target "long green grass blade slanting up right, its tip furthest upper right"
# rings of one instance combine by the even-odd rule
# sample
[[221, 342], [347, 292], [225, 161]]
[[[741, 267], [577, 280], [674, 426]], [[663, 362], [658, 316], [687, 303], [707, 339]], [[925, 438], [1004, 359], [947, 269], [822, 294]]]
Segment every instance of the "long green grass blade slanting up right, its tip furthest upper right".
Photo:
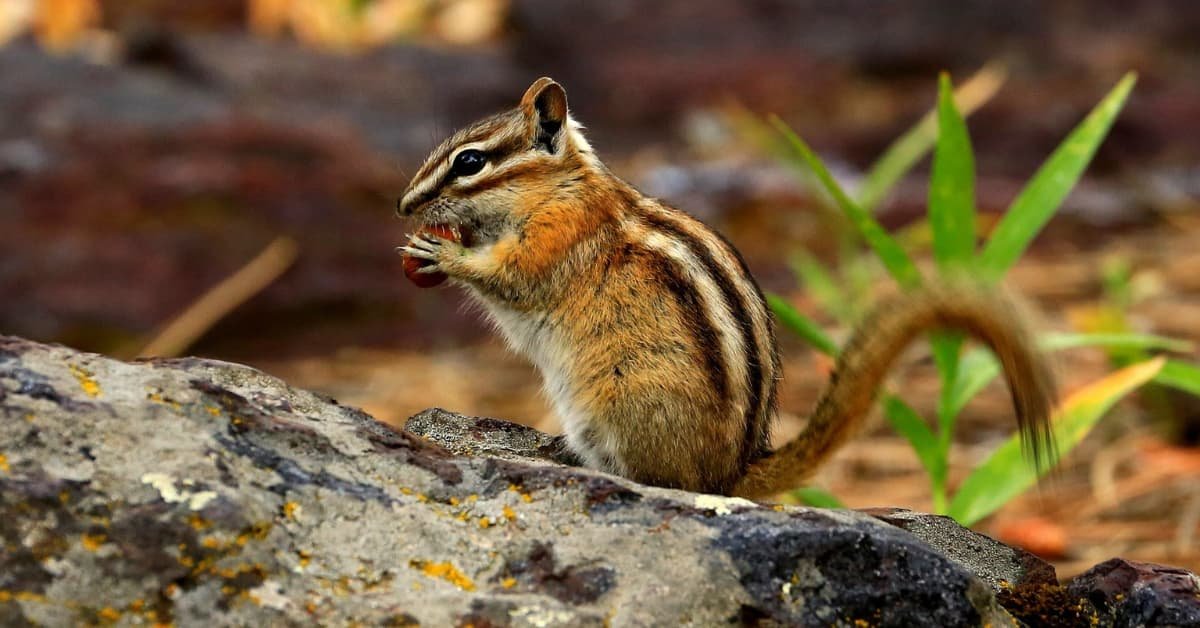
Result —
[[1016, 196], [979, 256], [979, 268], [986, 277], [1002, 277], [1058, 209], [1092, 161], [1135, 80], [1135, 74], [1126, 74]]

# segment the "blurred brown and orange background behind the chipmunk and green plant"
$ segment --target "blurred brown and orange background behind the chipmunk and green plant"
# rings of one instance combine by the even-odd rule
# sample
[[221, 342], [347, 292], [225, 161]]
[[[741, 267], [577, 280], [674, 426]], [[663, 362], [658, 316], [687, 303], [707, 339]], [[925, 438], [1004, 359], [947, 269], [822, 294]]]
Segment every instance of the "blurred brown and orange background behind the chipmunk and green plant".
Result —
[[[1002, 84], [968, 120], [984, 228], [1139, 73], [1008, 281], [1048, 329], [1200, 341], [1198, 32], [1187, 0], [2, 0], [0, 333], [242, 361], [396, 424], [442, 406], [557, 431], [533, 369], [460, 292], [408, 283], [394, 251], [406, 174], [455, 127], [554, 77], [619, 175], [718, 227], [766, 288], [842, 334], [790, 268], [797, 251], [846, 264], [842, 227], [764, 115], [853, 186], [934, 106], [940, 71], [986, 66]], [[926, 262], [928, 168], [877, 211]], [[887, 289], [854, 268], [863, 305]], [[779, 439], [829, 367], [781, 336]], [[1061, 354], [1063, 388], [1114, 359]], [[894, 385], [929, 415], [936, 382], [918, 351]], [[1012, 430], [1002, 387], [960, 423], [952, 479]], [[1200, 569], [1198, 441], [1194, 397], [1144, 391], [979, 528], [1060, 576], [1114, 555]], [[930, 508], [882, 421], [817, 484], [852, 507]]]

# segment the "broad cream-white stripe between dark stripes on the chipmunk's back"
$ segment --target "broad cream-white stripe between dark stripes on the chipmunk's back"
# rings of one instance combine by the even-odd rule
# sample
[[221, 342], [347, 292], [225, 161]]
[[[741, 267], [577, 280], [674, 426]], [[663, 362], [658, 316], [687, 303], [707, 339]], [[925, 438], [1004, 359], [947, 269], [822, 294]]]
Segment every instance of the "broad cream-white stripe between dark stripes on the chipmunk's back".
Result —
[[745, 412], [745, 403], [748, 401], [745, 389], [749, 377], [746, 369], [749, 360], [745, 352], [756, 349], [755, 347], [742, 346], [740, 325], [738, 325], [733, 312], [725, 304], [725, 298], [716, 285], [716, 280], [708, 274], [703, 263], [692, 255], [686, 244], [665, 233], [648, 231], [646, 232], [643, 244], [679, 263], [684, 275], [696, 286], [696, 292], [700, 293], [700, 303], [704, 311], [695, 312], [695, 315], [707, 318], [720, 339], [728, 389], [736, 393], [733, 402], [738, 408], [738, 415], [742, 415]]

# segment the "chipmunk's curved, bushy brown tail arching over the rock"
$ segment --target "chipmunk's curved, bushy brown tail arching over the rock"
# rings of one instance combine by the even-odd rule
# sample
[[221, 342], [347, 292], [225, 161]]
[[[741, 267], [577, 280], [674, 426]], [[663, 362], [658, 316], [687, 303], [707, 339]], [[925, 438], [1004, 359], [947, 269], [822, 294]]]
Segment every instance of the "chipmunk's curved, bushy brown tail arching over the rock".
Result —
[[804, 431], [750, 466], [732, 495], [762, 498], [804, 483], [870, 415], [875, 397], [905, 347], [931, 330], [961, 331], [986, 345], [1003, 366], [1027, 451], [1040, 465], [1054, 447], [1054, 373], [1013, 301], [973, 286], [924, 287], [889, 299], [858, 325]]

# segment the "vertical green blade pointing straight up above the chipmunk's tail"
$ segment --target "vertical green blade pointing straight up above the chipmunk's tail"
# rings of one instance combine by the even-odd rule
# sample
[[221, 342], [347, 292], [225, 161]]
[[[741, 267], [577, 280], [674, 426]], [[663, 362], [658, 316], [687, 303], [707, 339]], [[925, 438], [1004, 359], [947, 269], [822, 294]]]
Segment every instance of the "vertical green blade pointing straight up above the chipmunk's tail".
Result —
[[974, 155], [967, 124], [954, 107], [950, 77], [937, 89], [937, 145], [929, 178], [929, 226], [934, 259], [943, 271], [971, 263], [976, 245]]

